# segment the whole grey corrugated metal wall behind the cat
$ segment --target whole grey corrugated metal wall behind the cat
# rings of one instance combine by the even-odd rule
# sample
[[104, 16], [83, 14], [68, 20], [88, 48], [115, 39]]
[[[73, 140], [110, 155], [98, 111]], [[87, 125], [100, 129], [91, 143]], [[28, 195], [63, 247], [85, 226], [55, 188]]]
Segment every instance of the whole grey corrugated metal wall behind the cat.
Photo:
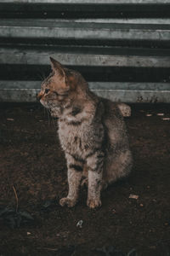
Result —
[[0, 102], [35, 102], [49, 55], [99, 96], [170, 102], [170, 1], [0, 1]]

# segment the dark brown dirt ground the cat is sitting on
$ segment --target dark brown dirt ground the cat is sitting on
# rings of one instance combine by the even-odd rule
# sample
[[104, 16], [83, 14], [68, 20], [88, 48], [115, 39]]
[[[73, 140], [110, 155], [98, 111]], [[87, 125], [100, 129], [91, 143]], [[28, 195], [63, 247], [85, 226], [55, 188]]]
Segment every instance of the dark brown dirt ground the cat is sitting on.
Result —
[[[16, 207], [15, 189], [19, 210], [34, 218], [15, 229], [0, 218], [1, 256], [170, 255], [170, 120], [163, 120], [170, 105], [132, 109], [126, 123], [133, 171], [102, 193], [102, 207], [90, 210], [86, 188], [76, 207], [59, 206], [68, 187], [56, 120], [39, 105], [0, 106], [0, 207]], [[112, 253], [104, 253], [108, 247]]]

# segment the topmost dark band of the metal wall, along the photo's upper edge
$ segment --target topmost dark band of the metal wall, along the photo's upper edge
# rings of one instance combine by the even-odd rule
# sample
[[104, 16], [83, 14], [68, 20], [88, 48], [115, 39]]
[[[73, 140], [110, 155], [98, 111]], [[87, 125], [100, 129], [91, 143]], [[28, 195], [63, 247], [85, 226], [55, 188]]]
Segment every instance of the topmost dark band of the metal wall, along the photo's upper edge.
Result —
[[1, 1], [3, 18], [170, 18], [169, 1]]

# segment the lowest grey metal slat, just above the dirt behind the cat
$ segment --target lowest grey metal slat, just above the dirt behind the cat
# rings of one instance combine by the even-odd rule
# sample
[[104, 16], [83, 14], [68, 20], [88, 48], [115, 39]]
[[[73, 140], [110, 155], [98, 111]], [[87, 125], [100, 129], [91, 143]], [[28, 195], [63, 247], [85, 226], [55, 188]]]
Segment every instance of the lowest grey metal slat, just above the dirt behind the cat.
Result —
[[[5, 81], [7, 83], [7, 81]], [[9, 84], [15, 84], [14, 86], [21, 86], [31, 88], [31, 89], [2, 89], [1, 84], [4, 81], [0, 81], [0, 102], [36, 102], [37, 93], [39, 89], [34, 89], [32, 87], [40, 85], [38, 81], [8, 81]], [[22, 85], [23, 83], [23, 85]], [[32, 84], [32, 85], [31, 85]], [[12, 85], [10, 85], [12, 86]], [[124, 86], [124, 89], [120, 89]], [[140, 89], [139, 90], [139, 86]], [[163, 86], [163, 87], [162, 87]], [[111, 99], [113, 102], [170, 102], [170, 84], [118, 84], [118, 83], [89, 83], [89, 87], [98, 96], [103, 96], [105, 98]], [[149, 90], [146, 90], [148, 87]], [[154, 90], [154, 87], [161, 90]], [[102, 89], [103, 88], [103, 89]], [[104, 89], [105, 88], [105, 89]], [[106, 89], [107, 88], [107, 89]], [[129, 90], [131, 88], [131, 90]], [[135, 90], [136, 88], [136, 90]], [[164, 88], [164, 89], [163, 89]]]

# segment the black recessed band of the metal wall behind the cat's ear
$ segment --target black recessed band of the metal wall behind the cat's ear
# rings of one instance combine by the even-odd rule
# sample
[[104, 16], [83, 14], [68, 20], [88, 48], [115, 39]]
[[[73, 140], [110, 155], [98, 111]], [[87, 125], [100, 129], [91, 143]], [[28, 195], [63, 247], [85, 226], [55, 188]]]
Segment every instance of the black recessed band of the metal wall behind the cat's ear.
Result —
[[[169, 82], [169, 67], [93, 67], [69, 66], [82, 73], [87, 81], [100, 82]], [[49, 65], [0, 64], [1, 80], [39, 80], [51, 72]]]

